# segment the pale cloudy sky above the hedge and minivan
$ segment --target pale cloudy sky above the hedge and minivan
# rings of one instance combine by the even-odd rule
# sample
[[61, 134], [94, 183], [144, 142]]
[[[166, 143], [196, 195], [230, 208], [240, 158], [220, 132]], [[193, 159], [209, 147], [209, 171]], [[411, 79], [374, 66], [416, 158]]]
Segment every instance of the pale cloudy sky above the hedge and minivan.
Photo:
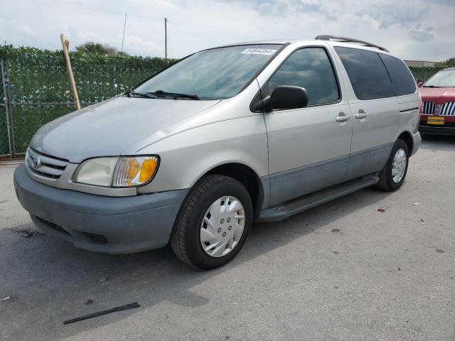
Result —
[[[3, 4], [2, 4], [3, 3]], [[455, 57], [455, 0], [0, 0], [0, 42], [70, 50], [86, 41], [132, 55], [168, 58], [204, 48], [269, 39], [348, 36], [406, 60]]]

